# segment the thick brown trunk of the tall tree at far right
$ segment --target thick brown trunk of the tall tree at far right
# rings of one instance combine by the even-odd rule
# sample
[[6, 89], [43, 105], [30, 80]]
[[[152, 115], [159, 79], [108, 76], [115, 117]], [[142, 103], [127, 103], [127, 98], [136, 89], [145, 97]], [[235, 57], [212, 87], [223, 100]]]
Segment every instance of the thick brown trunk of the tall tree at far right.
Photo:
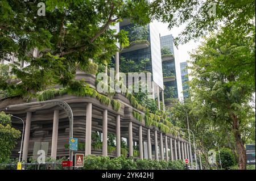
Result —
[[237, 116], [232, 114], [232, 119], [233, 119], [234, 138], [236, 140], [237, 152], [239, 157], [238, 166], [240, 170], [246, 170], [246, 151], [245, 151], [245, 146], [243, 144], [243, 141], [241, 139]]

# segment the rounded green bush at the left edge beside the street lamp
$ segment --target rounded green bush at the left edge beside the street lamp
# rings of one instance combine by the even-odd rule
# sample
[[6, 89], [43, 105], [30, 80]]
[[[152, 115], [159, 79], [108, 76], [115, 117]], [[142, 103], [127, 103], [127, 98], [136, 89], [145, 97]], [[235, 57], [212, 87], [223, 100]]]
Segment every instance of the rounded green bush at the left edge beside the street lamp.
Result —
[[20, 131], [11, 127], [11, 116], [0, 112], [0, 163], [9, 160], [19, 137]]

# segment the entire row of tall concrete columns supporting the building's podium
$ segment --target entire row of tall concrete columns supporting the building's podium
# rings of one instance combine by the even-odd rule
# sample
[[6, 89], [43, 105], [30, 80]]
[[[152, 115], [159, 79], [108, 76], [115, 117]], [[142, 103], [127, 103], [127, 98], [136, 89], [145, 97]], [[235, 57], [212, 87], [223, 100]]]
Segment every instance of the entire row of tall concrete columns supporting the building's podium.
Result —
[[[102, 119], [102, 155], [108, 155], [108, 110], [103, 111]], [[30, 140], [30, 126], [31, 126], [32, 112], [27, 112], [26, 117], [26, 127], [24, 132], [24, 144], [23, 144], [23, 154], [22, 160], [27, 161], [28, 154], [28, 143]], [[57, 155], [57, 135], [58, 135], [58, 125], [59, 125], [59, 110], [54, 110], [53, 115], [53, 131], [52, 131], [52, 144], [51, 144], [51, 157], [56, 159]], [[92, 134], [92, 103], [86, 105], [86, 133], [85, 133], [85, 155], [91, 154], [91, 134]], [[116, 117], [116, 153], [117, 157], [121, 155], [121, 132], [120, 132], [120, 115]], [[166, 160], [169, 160], [168, 155], [168, 136], [164, 136], [160, 132], [160, 159], [164, 160], [164, 145], [166, 152]], [[133, 157], [133, 122], [129, 121], [128, 126], [128, 146], [129, 146], [129, 156]], [[154, 142], [155, 142], [155, 159], [159, 160], [158, 153], [158, 131], [154, 131]], [[185, 159], [189, 157], [188, 144], [186, 142], [180, 142], [178, 139], [174, 139], [174, 151], [173, 151], [173, 138], [170, 138], [170, 159]], [[163, 144], [164, 143], [164, 144]], [[147, 147], [148, 147], [148, 159], [152, 159], [152, 146], [151, 146], [151, 132], [147, 129]], [[174, 153], [173, 153], [174, 152]], [[143, 139], [142, 139], [142, 125], [139, 125], [139, 155], [143, 159]]]

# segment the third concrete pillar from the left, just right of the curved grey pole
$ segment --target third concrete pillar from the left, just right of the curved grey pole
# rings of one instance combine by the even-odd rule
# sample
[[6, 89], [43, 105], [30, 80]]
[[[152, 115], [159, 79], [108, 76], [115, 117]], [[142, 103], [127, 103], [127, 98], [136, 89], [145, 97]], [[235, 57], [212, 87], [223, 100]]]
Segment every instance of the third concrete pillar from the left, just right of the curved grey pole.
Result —
[[92, 103], [86, 106], [85, 155], [90, 155], [92, 144]]

